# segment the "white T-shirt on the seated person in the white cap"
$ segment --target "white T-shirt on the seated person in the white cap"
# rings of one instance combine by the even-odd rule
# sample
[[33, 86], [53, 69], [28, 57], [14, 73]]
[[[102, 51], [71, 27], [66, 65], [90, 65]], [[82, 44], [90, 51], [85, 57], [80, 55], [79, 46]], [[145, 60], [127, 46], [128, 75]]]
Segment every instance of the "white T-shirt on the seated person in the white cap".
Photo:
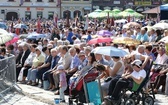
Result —
[[137, 71], [134, 70], [131, 73], [131, 75], [136, 79], [140, 79], [141, 77], [145, 78], [146, 77], [146, 71], [145, 70], [140, 70], [139, 72], [137, 72]]

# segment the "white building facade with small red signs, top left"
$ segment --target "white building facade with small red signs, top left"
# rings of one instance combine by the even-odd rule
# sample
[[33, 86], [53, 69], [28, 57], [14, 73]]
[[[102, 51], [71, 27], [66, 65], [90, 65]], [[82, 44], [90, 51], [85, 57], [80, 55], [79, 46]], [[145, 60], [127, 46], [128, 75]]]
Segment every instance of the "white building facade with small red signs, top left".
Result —
[[60, 14], [60, 0], [1, 0], [0, 18], [14, 19], [52, 19], [54, 13]]

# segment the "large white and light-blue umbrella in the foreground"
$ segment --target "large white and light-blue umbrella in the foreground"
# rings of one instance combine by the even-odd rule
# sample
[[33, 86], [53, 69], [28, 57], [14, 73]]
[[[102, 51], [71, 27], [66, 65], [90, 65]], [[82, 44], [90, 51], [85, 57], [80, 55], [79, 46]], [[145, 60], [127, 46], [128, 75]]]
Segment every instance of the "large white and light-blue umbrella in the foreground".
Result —
[[122, 49], [118, 49], [115, 47], [107, 46], [107, 47], [96, 47], [93, 51], [95, 54], [102, 54], [107, 56], [117, 56], [124, 57], [128, 53]]

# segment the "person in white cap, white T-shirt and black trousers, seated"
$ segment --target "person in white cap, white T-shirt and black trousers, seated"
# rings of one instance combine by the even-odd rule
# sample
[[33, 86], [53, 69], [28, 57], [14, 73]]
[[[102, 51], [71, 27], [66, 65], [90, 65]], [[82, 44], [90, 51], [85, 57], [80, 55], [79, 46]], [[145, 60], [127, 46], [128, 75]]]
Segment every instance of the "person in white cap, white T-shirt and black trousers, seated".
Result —
[[134, 82], [140, 85], [146, 77], [146, 71], [142, 69], [142, 62], [140, 60], [134, 60], [131, 64], [134, 70], [131, 74], [126, 73], [122, 77], [112, 79], [108, 92], [110, 96], [108, 98], [111, 100], [118, 102], [122, 89], [129, 88]]

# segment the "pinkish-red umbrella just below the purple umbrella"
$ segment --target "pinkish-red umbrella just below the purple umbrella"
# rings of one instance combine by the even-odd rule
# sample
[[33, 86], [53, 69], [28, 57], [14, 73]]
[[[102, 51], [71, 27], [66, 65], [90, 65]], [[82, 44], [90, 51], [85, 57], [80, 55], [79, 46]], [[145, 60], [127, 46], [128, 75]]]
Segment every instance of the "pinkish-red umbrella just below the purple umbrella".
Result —
[[108, 43], [108, 42], [111, 42], [112, 39], [109, 38], [109, 37], [105, 37], [105, 38], [96, 38], [96, 39], [91, 39], [88, 44], [97, 44], [97, 43]]

